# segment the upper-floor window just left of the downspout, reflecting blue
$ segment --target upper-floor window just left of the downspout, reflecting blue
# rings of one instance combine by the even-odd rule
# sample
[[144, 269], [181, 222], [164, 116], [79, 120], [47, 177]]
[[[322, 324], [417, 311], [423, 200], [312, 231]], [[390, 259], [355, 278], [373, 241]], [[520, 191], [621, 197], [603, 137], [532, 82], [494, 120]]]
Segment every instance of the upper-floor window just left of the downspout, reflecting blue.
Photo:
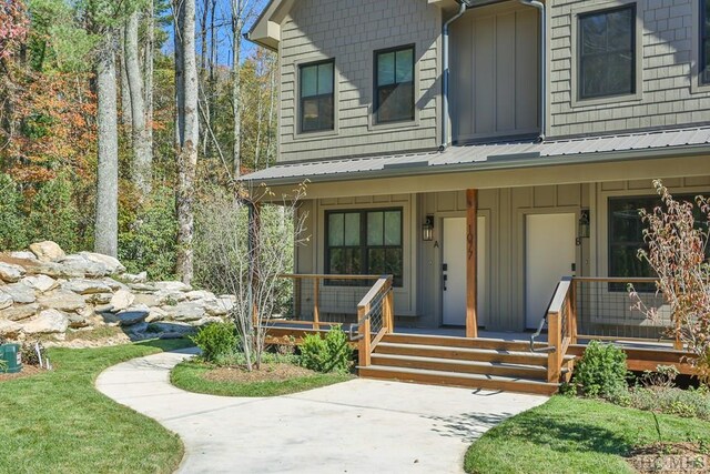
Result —
[[377, 123], [414, 120], [414, 47], [375, 52]]

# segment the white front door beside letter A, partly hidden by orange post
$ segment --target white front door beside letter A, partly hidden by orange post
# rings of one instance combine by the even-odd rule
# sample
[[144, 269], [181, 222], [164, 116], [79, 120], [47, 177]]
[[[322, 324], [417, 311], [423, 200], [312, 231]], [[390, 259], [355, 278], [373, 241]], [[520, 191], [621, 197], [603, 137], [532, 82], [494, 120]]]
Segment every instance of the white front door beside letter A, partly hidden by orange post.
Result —
[[[466, 218], [445, 218], [443, 239], [444, 301], [442, 322], [445, 325], [466, 325]], [[486, 282], [486, 218], [478, 216], [478, 324], [485, 321]], [[444, 270], [445, 269], [445, 270]]]

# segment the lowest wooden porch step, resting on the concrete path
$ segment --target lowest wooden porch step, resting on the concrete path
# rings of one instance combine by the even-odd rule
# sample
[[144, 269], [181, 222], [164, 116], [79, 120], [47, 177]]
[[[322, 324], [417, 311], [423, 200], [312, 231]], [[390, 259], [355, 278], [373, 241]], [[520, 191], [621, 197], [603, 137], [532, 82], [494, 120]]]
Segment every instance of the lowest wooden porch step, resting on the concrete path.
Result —
[[359, 376], [367, 379], [394, 380], [398, 382], [426, 383], [432, 385], [462, 386], [507, 392], [551, 395], [559, 385], [531, 379], [518, 379], [485, 374], [454, 373], [425, 369], [369, 365], [358, 367]]

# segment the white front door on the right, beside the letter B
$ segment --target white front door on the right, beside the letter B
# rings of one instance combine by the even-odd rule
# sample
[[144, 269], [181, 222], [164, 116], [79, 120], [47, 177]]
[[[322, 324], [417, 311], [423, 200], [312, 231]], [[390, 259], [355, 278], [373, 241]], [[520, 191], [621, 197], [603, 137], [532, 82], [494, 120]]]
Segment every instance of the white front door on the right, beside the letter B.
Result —
[[525, 323], [537, 329], [555, 288], [572, 274], [575, 214], [528, 214], [525, 218]]

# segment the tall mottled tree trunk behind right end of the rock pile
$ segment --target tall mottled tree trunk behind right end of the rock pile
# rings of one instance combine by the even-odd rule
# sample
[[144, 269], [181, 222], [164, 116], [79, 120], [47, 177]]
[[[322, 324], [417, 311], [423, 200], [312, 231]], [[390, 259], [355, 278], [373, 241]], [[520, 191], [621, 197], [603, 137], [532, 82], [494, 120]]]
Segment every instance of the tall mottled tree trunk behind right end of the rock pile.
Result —
[[193, 275], [193, 199], [197, 167], [200, 118], [197, 62], [195, 57], [195, 0], [184, 0], [182, 28], [184, 73], [184, 135], [178, 155], [178, 273], [190, 284]]

